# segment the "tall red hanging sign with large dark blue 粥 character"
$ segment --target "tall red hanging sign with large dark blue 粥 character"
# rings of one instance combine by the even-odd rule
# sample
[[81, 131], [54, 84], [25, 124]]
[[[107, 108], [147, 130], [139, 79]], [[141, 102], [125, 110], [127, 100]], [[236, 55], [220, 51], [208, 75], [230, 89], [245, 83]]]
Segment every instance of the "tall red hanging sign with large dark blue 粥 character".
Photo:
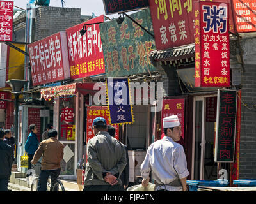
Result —
[[194, 6], [195, 87], [230, 87], [228, 3]]

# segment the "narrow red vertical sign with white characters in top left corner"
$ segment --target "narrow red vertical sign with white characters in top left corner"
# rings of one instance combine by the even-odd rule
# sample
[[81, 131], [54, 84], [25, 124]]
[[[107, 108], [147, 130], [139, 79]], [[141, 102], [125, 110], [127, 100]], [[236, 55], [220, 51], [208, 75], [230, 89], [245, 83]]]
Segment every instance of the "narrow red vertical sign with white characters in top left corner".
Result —
[[0, 41], [12, 41], [13, 1], [0, 1]]

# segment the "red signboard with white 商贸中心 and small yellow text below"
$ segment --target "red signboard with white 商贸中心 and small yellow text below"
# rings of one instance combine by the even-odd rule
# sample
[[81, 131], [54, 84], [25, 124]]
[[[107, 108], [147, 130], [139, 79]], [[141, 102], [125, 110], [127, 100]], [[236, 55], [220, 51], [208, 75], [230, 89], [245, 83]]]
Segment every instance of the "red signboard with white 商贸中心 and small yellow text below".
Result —
[[[95, 24], [100, 22], [104, 22], [104, 15], [66, 30], [70, 77], [72, 79], [105, 73], [99, 24]], [[84, 24], [86, 33], [81, 36], [79, 31]]]

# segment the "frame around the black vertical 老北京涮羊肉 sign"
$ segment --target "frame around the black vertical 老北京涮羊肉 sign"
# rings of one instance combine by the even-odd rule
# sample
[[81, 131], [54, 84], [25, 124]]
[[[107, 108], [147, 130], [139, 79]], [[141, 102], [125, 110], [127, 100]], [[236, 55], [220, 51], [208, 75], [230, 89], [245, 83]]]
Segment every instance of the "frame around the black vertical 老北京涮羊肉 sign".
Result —
[[[235, 118], [234, 118], [234, 133], [233, 133], [233, 141], [232, 141], [232, 154], [230, 154], [230, 156], [232, 156], [232, 159], [230, 160], [221, 160], [218, 159], [218, 153], [220, 151], [219, 149], [219, 125], [220, 125], [220, 94], [221, 91], [224, 92], [236, 92], [236, 110], [235, 110]], [[215, 136], [215, 152], [214, 152], [214, 161], [215, 162], [220, 162], [220, 163], [234, 163], [234, 159], [235, 159], [235, 145], [236, 145], [236, 118], [237, 118], [237, 91], [236, 90], [231, 90], [231, 89], [218, 89], [218, 98], [217, 98], [217, 118], [216, 118], [216, 136]]]

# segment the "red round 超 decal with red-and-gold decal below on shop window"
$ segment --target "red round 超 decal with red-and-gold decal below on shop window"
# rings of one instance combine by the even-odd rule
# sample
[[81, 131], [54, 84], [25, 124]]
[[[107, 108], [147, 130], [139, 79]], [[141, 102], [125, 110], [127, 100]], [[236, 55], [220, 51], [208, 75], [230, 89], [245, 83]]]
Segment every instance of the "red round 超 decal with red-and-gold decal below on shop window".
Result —
[[69, 124], [73, 122], [74, 116], [73, 108], [65, 107], [61, 109], [61, 137], [65, 136], [68, 141], [74, 141], [76, 136], [76, 125]]

